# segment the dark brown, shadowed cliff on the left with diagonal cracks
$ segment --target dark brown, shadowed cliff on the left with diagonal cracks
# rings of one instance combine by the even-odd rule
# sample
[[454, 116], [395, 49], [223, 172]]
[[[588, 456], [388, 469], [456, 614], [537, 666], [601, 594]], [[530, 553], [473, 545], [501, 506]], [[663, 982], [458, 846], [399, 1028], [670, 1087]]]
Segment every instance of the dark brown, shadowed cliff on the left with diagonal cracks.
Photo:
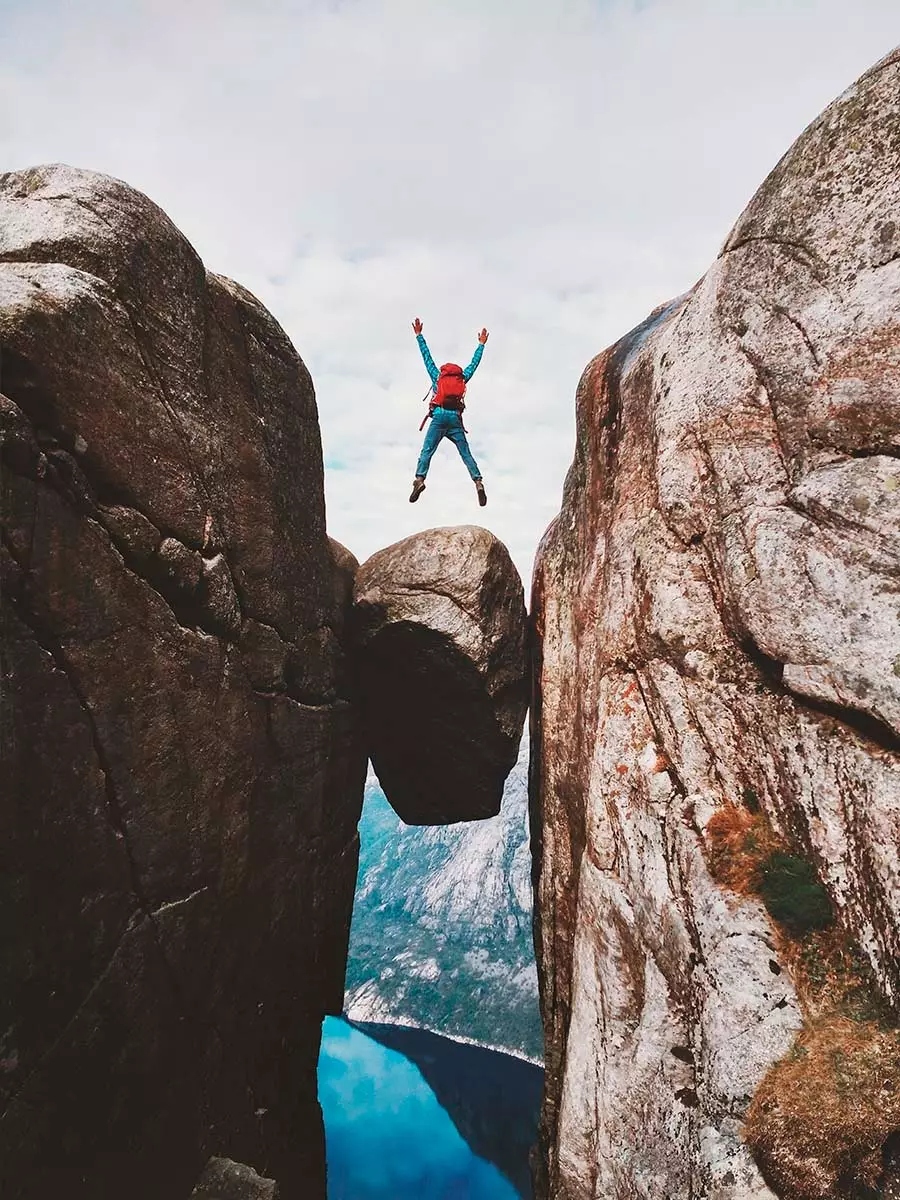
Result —
[[0, 178], [0, 1192], [186, 1195], [224, 1152], [324, 1194], [365, 754], [312, 383], [65, 167]]

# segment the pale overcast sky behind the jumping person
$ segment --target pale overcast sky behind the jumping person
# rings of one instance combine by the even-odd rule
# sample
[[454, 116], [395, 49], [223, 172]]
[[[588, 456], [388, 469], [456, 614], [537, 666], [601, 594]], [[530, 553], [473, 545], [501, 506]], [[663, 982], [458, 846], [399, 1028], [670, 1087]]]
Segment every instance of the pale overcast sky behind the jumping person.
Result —
[[[127, 180], [312, 372], [329, 528], [360, 558], [487, 524], [526, 577], [587, 361], [702, 275], [899, 0], [0, 0], [0, 169]], [[438, 362], [491, 337], [408, 503]]]

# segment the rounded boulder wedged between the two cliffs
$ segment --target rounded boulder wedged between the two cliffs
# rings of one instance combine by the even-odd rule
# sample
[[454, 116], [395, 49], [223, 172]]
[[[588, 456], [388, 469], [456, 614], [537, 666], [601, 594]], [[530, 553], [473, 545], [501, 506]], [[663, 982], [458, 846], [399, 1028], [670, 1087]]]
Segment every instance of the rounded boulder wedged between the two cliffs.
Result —
[[407, 824], [499, 812], [527, 707], [526, 610], [506, 547], [474, 526], [373, 554], [354, 590], [372, 764]]

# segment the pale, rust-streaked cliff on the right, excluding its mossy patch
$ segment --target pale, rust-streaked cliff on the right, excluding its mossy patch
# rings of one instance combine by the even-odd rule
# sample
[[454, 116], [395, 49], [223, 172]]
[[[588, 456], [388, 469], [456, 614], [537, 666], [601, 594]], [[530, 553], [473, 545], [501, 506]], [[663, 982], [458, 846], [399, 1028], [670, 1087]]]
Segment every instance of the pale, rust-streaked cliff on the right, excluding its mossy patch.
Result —
[[773, 1194], [740, 1123], [810, 972], [722, 847], [782, 846], [900, 1002], [899, 210], [895, 53], [581, 380], [534, 583], [544, 1196]]

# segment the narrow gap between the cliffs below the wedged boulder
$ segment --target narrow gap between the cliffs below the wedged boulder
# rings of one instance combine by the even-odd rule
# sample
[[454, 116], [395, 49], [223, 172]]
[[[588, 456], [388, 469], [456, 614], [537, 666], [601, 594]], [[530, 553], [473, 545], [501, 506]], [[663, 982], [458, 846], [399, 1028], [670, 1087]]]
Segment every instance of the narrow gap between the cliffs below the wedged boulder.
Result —
[[[408, 826], [370, 768], [344, 1014], [325, 1020], [319, 1058], [329, 1177], [346, 1194], [370, 1169], [342, 1152], [359, 1145], [346, 1092], [365, 1086], [368, 1145], [402, 1138], [420, 1177], [454, 1182], [466, 1163], [485, 1195], [530, 1200], [544, 1072], [527, 769], [526, 740], [496, 817]], [[409, 1175], [392, 1198], [412, 1198]]]

